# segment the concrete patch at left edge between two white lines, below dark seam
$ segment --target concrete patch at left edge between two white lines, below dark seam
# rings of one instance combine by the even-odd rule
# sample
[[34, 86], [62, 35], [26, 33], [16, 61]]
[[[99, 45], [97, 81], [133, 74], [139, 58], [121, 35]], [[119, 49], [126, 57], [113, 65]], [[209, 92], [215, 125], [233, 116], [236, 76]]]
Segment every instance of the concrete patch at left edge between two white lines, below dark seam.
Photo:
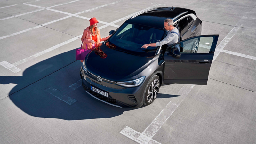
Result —
[[28, 28], [36, 27], [37, 24], [29, 22], [27, 20], [22, 20], [19, 18], [12, 18], [0, 21], [0, 37], [10, 35], [12, 33], [19, 32]]

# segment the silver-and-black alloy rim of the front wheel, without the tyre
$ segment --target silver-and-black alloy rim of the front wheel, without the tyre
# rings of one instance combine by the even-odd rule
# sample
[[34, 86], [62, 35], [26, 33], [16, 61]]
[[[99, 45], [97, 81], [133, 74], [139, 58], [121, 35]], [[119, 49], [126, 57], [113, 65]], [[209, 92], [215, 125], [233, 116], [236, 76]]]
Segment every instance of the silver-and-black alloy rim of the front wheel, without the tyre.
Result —
[[153, 102], [156, 99], [156, 95], [159, 92], [160, 83], [158, 79], [155, 79], [149, 86], [147, 93], [147, 100], [149, 103]]

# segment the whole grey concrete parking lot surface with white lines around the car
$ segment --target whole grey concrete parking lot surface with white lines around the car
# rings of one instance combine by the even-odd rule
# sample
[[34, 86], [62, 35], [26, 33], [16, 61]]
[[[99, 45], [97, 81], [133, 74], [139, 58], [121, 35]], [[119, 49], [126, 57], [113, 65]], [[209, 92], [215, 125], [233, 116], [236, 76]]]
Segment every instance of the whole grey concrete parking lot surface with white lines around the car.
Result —
[[[192, 9], [219, 34], [207, 86], [163, 85], [153, 104], [116, 108], [81, 86], [75, 49], [89, 19], [101, 37], [152, 7]], [[0, 143], [255, 143], [256, 2], [0, 2]], [[207, 49], [208, 41], [200, 41]]]

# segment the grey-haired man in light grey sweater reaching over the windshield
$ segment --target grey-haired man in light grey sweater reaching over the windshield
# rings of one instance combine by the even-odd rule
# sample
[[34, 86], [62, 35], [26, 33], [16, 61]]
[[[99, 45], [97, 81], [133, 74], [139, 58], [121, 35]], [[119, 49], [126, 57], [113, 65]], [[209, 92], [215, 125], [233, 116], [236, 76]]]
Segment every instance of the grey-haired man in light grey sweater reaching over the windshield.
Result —
[[[169, 30], [167, 33], [167, 36], [160, 42], [152, 43], [152, 44], [144, 44], [141, 48], [147, 48], [149, 46], [156, 47], [156, 46], [162, 46], [164, 44], [172, 45], [175, 43], [178, 43], [180, 40], [179, 30], [173, 26], [172, 19], [165, 19], [164, 20], [164, 29]], [[177, 47], [180, 51], [180, 48]]]

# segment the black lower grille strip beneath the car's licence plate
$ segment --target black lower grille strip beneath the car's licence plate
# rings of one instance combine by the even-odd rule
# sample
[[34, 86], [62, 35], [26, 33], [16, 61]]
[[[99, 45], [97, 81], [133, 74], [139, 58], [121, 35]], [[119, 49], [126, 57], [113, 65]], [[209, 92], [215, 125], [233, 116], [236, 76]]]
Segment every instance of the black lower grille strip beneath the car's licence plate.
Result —
[[121, 107], [135, 107], [136, 105], [130, 105], [130, 104], [126, 104], [122, 101], [119, 101], [119, 100], [116, 100], [116, 99], [113, 99], [113, 98], [109, 98], [109, 97], [105, 97], [105, 96], [102, 96], [100, 95], [99, 93], [97, 92], [93, 92], [91, 89], [89, 89], [87, 86], [83, 85], [84, 87], [84, 90], [91, 93], [93, 96], [99, 98], [100, 100], [104, 100], [108, 103], [111, 103], [111, 104], [114, 104], [114, 105], [118, 105], [118, 106], [121, 106]]

